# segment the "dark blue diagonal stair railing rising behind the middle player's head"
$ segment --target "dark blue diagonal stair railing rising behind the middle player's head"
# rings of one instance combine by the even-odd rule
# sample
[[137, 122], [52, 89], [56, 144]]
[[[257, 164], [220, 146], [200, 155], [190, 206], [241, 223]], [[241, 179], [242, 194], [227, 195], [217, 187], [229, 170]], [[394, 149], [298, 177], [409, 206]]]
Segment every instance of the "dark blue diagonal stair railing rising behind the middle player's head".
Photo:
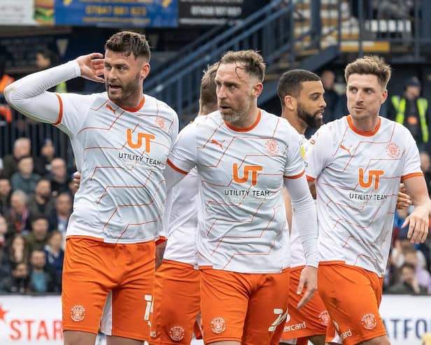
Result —
[[[182, 125], [196, 115], [202, 71], [220, 59], [228, 50], [260, 50], [267, 64], [276, 61], [285, 52], [295, 52], [295, 43], [311, 34], [295, 36], [295, 8], [307, 1], [273, 1], [245, 20], [227, 29], [211, 42], [184, 57], [162, 73], [150, 76], [144, 88], [146, 93], [162, 99], [176, 109]], [[305, 43], [304, 43], [305, 44]], [[307, 43], [308, 44], [308, 43]]]

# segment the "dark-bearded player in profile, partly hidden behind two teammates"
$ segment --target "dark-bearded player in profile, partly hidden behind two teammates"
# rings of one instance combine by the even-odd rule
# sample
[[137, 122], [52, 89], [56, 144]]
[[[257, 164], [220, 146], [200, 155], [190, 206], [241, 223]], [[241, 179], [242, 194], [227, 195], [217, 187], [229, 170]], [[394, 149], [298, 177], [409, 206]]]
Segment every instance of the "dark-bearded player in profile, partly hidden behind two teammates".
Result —
[[[323, 111], [326, 106], [324, 92], [320, 78], [315, 73], [303, 69], [283, 73], [278, 82], [277, 93], [283, 111], [281, 116], [301, 135], [304, 157], [311, 148], [304, 136], [306, 129], [308, 127], [318, 129], [323, 124]], [[287, 193], [285, 204], [289, 212], [291, 205]], [[308, 344], [310, 340], [314, 345], [324, 345], [329, 315], [318, 293], [315, 293], [302, 309], [297, 309], [302, 297], [297, 294], [297, 285], [306, 260], [299, 239], [296, 217], [292, 218], [290, 253], [289, 307], [281, 343], [301, 345]]]

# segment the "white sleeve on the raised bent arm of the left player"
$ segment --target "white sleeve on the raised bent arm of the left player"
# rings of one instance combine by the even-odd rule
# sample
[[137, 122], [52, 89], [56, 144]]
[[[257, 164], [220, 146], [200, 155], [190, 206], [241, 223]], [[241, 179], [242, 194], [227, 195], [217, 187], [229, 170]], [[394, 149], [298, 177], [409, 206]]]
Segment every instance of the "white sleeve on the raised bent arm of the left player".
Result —
[[46, 90], [77, 76], [80, 76], [80, 68], [76, 61], [71, 61], [15, 81], [6, 87], [4, 95], [10, 106], [27, 117], [39, 122], [55, 123], [61, 105], [57, 95]]

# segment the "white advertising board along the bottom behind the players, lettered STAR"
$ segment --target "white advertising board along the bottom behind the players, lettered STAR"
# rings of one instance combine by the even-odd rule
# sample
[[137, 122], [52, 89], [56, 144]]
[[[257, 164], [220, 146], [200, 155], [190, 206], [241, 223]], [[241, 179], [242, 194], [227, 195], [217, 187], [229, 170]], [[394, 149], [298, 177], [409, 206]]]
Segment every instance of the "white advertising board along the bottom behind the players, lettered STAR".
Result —
[[[380, 311], [392, 345], [420, 345], [431, 332], [431, 296], [383, 295]], [[0, 295], [1, 345], [61, 345], [62, 339], [60, 296]]]

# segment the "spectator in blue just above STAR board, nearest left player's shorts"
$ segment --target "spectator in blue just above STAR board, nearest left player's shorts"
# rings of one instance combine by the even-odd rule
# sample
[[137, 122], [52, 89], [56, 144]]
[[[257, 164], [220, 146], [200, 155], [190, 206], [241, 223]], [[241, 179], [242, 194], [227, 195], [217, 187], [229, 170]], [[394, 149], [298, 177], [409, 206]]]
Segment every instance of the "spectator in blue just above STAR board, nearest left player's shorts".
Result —
[[55, 272], [46, 265], [44, 251], [31, 252], [29, 280], [34, 293], [56, 293], [61, 290]]

